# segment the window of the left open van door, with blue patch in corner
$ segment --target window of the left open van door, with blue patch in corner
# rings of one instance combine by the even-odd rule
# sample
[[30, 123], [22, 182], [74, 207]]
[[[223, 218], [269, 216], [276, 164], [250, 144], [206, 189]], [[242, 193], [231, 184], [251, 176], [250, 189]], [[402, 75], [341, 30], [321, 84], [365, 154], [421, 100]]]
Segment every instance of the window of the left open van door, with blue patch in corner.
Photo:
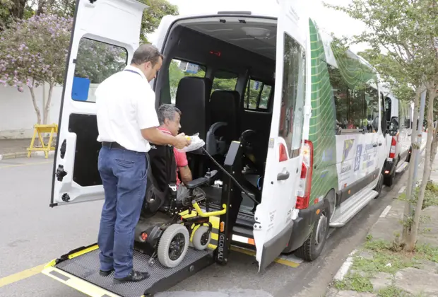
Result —
[[97, 86], [112, 74], [122, 71], [127, 59], [128, 52], [123, 47], [82, 38], [76, 57], [71, 98], [96, 102]]

